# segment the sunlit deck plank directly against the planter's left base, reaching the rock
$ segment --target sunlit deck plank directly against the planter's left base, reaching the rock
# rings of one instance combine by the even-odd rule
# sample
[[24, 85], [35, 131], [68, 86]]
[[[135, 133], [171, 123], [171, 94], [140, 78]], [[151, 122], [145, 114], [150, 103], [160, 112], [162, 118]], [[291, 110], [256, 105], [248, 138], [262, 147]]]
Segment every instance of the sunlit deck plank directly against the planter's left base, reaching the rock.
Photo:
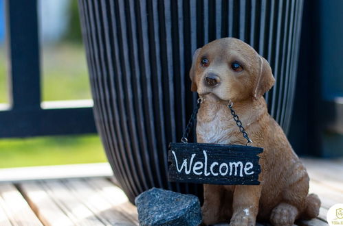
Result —
[[86, 182], [89, 186], [95, 188], [102, 197], [105, 197], [113, 206], [138, 224], [137, 208], [129, 202], [126, 194], [120, 188], [104, 178], [89, 178]]

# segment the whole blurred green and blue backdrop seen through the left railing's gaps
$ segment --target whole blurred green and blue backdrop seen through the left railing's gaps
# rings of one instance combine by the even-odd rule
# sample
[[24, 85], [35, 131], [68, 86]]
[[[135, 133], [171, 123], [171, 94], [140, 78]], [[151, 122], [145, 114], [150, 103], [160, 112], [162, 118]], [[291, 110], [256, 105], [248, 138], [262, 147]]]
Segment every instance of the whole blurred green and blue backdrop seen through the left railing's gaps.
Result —
[[[5, 5], [0, 0], [0, 108], [10, 103], [6, 60]], [[85, 49], [82, 45], [78, 1], [39, 0], [38, 31], [41, 47], [42, 105], [52, 101], [91, 103]], [[58, 102], [57, 102], [58, 103]], [[15, 122], [14, 122], [15, 123]], [[0, 125], [1, 126], [1, 125]], [[0, 168], [105, 162], [96, 134], [1, 138]]]

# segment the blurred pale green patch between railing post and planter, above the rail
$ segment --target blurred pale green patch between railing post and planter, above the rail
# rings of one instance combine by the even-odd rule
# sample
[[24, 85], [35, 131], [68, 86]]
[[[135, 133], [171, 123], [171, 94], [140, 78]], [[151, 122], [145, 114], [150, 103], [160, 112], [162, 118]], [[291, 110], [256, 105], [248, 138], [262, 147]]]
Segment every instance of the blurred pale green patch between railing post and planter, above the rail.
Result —
[[91, 99], [85, 50], [63, 42], [43, 48], [42, 99]]

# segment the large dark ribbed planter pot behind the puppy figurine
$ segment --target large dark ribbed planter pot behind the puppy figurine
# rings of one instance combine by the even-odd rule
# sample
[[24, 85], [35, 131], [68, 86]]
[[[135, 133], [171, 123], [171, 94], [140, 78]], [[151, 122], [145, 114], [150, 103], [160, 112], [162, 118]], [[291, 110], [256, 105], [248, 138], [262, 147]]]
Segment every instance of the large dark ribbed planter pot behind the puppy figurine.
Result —
[[197, 99], [188, 77], [192, 53], [211, 40], [240, 38], [269, 61], [276, 78], [266, 95], [269, 111], [288, 130], [301, 0], [79, 0], [79, 6], [96, 125], [130, 201], [152, 187], [202, 196], [201, 185], [168, 182], [167, 149], [180, 140]]

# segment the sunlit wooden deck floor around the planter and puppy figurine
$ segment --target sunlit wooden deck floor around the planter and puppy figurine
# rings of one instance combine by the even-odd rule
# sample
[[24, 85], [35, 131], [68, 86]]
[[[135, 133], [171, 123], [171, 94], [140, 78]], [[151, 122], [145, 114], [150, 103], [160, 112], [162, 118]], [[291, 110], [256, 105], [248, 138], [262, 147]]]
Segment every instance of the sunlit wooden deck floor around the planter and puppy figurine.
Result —
[[[320, 196], [322, 207], [318, 218], [297, 225], [327, 225], [327, 210], [343, 203], [343, 160], [303, 161], [310, 192]], [[109, 165], [85, 164], [0, 170], [0, 225], [138, 225], [138, 220]]]

